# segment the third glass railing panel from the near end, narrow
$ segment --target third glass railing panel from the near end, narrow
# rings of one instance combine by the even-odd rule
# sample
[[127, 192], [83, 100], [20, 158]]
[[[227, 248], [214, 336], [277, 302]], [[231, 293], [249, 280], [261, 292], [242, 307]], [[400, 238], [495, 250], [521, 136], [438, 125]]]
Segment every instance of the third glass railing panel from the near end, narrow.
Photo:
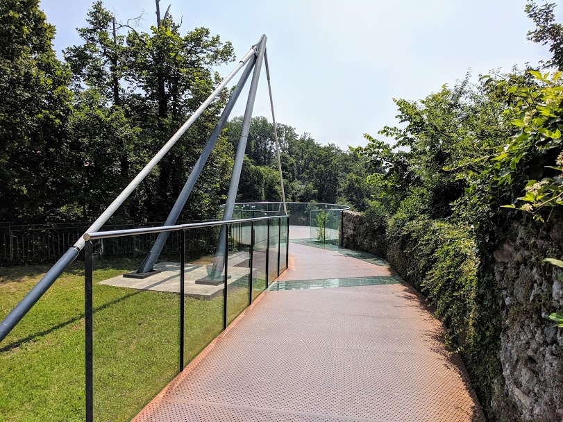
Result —
[[250, 303], [251, 223], [230, 225], [227, 258], [227, 323]]

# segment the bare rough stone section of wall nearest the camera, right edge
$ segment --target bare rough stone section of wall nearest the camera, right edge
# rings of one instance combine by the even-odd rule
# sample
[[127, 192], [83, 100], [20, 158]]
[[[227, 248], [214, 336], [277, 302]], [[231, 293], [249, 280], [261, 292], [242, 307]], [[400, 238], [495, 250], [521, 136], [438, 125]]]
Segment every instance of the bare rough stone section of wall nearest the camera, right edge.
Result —
[[514, 225], [494, 252], [502, 292], [501, 351], [505, 391], [525, 421], [563, 420], [563, 329], [548, 319], [563, 309], [560, 270], [541, 262], [560, 258], [562, 224]]

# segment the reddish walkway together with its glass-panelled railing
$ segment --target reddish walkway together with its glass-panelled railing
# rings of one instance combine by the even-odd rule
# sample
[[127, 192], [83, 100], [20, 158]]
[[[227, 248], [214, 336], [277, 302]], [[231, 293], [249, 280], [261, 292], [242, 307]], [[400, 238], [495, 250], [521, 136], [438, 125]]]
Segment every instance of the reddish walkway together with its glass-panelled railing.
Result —
[[[339, 246], [346, 207], [288, 203], [287, 215], [279, 208], [237, 204], [236, 219], [225, 223], [87, 236], [92, 420], [484, 421], [463, 362], [446, 350], [425, 299], [385, 260]], [[109, 258], [92, 260], [96, 243], [160, 230], [171, 234], [155, 266], [160, 273], [94, 280]], [[216, 280], [210, 275], [221, 233]], [[108, 339], [106, 310], [92, 308], [104, 287], [154, 296], [146, 318], [119, 315], [151, 337], [121, 330]], [[174, 307], [164, 336], [162, 321], [149, 318], [162, 302]], [[126, 371], [132, 364], [137, 370]], [[128, 399], [133, 386], [146, 391], [136, 405]]]

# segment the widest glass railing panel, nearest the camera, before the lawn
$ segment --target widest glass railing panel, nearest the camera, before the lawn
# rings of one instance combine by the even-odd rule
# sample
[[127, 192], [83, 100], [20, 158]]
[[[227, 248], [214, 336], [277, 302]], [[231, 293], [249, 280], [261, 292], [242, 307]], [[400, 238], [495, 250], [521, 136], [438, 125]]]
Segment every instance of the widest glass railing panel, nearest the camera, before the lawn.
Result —
[[180, 233], [145, 278], [135, 269], [155, 236], [94, 242], [94, 421], [130, 421], [179, 371]]

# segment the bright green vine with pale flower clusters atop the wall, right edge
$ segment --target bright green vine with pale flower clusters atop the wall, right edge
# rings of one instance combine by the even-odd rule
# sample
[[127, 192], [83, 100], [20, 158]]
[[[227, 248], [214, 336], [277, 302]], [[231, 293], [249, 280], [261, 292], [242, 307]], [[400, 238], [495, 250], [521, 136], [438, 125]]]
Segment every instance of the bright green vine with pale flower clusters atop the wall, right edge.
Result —
[[[519, 117], [512, 121], [517, 132], [489, 158], [479, 178], [489, 178], [501, 195], [512, 196], [512, 203], [503, 207], [529, 212], [534, 219], [544, 221], [546, 208], [551, 214], [551, 208], [563, 205], [562, 73], [551, 77], [539, 71], [530, 74], [535, 76], [537, 86], [513, 85], [508, 90], [517, 99]], [[489, 78], [486, 83], [494, 81]]]

